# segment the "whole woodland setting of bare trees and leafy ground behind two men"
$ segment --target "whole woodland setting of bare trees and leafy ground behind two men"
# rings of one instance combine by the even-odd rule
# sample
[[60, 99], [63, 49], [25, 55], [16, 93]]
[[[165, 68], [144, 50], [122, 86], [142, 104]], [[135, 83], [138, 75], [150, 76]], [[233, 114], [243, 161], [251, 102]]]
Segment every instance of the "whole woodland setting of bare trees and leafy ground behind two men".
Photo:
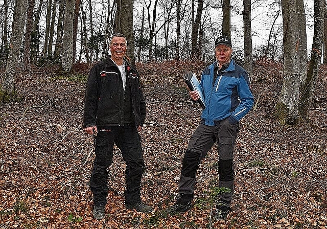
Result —
[[[0, 12], [1, 228], [326, 227], [323, 0], [3, 0]], [[114, 32], [134, 44], [128, 57], [141, 74], [148, 110], [142, 197], [155, 212], [125, 210], [125, 165], [115, 148], [107, 215], [95, 221], [83, 95]], [[232, 212], [226, 221], [213, 218], [220, 191], [213, 147], [199, 168], [194, 208], [169, 216], [201, 113], [183, 77], [200, 76], [222, 33], [232, 37], [233, 58], [248, 71], [255, 96], [240, 123]]]

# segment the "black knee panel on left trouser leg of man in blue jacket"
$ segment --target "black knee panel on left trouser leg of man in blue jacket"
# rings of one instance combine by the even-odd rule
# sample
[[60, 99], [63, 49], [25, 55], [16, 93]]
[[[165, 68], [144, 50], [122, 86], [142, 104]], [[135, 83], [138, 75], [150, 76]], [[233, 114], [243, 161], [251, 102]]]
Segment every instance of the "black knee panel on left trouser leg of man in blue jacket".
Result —
[[194, 178], [200, 163], [201, 153], [186, 150], [183, 158], [183, 167], [181, 174], [186, 177]]

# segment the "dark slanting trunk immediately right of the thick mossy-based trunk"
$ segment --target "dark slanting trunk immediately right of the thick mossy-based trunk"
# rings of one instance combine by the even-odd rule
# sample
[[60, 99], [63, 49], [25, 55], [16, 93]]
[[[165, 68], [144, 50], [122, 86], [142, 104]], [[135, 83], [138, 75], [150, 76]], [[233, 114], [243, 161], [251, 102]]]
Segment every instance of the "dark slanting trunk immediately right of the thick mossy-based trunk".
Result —
[[308, 110], [312, 102], [313, 94], [316, 90], [317, 76], [319, 66], [321, 63], [322, 54], [322, 41], [323, 41], [323, 20], [324, 20], [324, 4], [323, 0], [315, 0], [314, 6], [314, 32], [313, 42], [311, 49], [311, 59], [308, 70], [308, 75], [304, 89], [302, 91], [302, 97], [300, 99], [300, 113], [303, 119], [309, 119]]

